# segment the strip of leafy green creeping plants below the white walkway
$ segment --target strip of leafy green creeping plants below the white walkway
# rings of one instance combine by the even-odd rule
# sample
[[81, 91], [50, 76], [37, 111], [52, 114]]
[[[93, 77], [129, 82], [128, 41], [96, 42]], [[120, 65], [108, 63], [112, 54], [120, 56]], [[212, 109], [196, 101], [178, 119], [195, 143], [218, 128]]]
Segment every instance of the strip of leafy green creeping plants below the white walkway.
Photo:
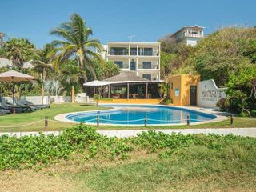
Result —
[[[142, 132], [138, 137], [107, 138], [90, 126], [75, 126], [59, 136], [41, 134], [38, 137], [0, 137], [0, 170], [49, 165], [59, 159], [69, 159], [71, 154], [82, 154], [85, 159], [108, 158], [126, 160], [133, 150], [159, 152], [160, 158], [168, 158], [176, 151], [192, 144], [206, 146], [210, 150], [222, 150], [227, 141], [242, 139], [233, 135], [218, 136], [163, 134]], [[246, 138], [244, 138], [246, 139]], [[254, 146], [252, 144], [252, 146]], [[166, 152], [165, 152], [166, 151]], [[38, 168], [39, 167], [39, 168]]]

